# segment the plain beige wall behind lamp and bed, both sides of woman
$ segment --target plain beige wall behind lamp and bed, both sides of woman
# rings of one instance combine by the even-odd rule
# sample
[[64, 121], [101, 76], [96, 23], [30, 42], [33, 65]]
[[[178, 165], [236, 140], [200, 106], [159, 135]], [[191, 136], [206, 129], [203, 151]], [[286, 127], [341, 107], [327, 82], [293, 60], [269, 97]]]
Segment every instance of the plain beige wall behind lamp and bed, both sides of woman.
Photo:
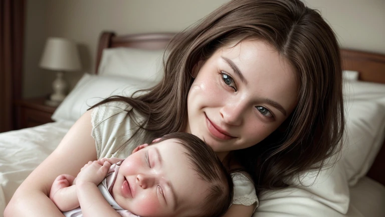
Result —
[[[30, 0], [27, 4], [24, 96], [51, 92], [55, 73], [38, 67], [47, 37], [79, 44], [83, 70], [65, 74], [72, 88], [95, 69], [103, 30], [117, 34], [177, 32], [228, 0]], [[385, 54], [384, 0], [304, 0], [335, 30], [341, 47]]]

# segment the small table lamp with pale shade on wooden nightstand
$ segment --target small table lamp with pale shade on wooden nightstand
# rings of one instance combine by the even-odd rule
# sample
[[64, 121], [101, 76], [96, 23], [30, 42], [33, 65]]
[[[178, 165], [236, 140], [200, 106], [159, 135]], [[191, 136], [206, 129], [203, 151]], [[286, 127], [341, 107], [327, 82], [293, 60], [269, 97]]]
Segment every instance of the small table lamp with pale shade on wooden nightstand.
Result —
[[81, 69], [79, 52], [76, 44], [64, 38], [48, 38], [40, 67], [53, 70], [56, 79], [52, 83], [54, 92], [46, 104], [58, 106], [66, 97], [67, 82], [63, 79], [64, 71], [78, 71]]

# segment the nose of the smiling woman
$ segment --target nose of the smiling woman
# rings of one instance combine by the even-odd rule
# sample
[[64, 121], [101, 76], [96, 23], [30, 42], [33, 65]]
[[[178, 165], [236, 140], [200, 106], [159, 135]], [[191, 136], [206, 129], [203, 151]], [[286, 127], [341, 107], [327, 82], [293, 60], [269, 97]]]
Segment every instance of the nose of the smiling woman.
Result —
[[223, 121], [229, 125], [242, 125], [245, 112], [245, 105], [242, 103], [227, 103], [220, 109]]

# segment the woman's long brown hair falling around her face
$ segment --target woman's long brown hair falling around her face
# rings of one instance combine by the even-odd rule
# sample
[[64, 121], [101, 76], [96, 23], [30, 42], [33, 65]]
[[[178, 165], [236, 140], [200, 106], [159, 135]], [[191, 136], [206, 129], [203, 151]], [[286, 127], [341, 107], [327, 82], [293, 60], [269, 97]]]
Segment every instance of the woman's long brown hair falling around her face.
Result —
[[[257, 194], [287, 186], [306, 170], [319, 170], [341, 148], [344, 129], [342, 72], [336, 37], [320, 14], [299, 0], [233, 0], [167, 47], [163, 80], [125, 101], [145, 117], [146, 141], [181, 132], [186, 125], [191, 71], [217, 49], [245, 39], [268, 42], [296, 69], [298, 104], [283, 125], [262, 142], [231, 152], [252, 176]], [[98, 103], [94, 106], [97, 106]], [[134, 118], [132, 113], [128, 113]], [[143, 134], [136, 134], [143, 135]], [[134, 135], [135, 136], [135, 135]]]

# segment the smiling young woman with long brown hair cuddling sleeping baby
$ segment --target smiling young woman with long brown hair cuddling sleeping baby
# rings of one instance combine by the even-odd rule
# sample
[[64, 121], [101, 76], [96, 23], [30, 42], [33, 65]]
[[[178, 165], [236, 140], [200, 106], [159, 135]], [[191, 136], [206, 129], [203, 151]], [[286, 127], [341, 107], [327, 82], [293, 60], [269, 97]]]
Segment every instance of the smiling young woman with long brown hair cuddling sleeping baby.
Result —
[[237, 171], [225, 216], [251, 216], [257, 195], [340, 149], [341, 83], [336, 38], [316, 11], [299, 0], [230, 1], [175, 36], [149, 93], [85, 113], [5, 216], [62, 216], [47, 196], [59, 174], [76, 176], [88, 161], [125, 157], [132, 144], [171, 132], [198, 136]]

